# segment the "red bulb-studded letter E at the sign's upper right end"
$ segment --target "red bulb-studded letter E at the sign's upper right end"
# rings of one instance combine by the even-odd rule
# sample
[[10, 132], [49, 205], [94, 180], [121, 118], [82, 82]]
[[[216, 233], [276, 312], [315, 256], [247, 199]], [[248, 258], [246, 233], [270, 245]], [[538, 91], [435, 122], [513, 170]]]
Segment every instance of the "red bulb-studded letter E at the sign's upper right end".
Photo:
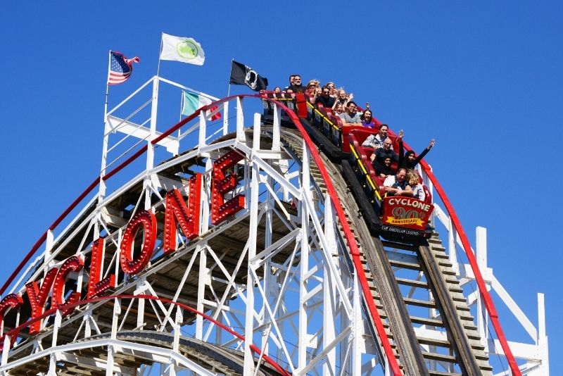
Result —
[[244, 208], [244, 196], [237, 194], [224, 202], [224, 194], [236, 188], [236, 175], [225, 172], [241, 161], [243, 156], [232, 150], [213, 163], [213, 182], [211, 183], [211, 223], [217, 225], [229, 215]]

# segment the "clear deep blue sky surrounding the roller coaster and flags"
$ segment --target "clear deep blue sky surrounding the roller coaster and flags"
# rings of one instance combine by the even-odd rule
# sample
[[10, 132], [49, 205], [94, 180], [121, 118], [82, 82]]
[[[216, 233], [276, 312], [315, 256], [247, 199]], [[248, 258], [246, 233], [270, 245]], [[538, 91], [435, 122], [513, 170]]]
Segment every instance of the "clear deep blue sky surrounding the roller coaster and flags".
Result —
[[83, 3], [0, 11], [0, 280], [98, 173], [108, 51], [141, 58], [110, 89], [116, 104], [156, 74], [167, 32], [194, 37], [206, 61], [165, 61], [165, 78], [222, 97], [235, 58], [272, 88], [291, 73], [334, 80], [418, 151], [436, 138], [426, 161], [472, 242], [487, 227], [488, 263], [533, 323], [545, 294], [551, 373], [563, 374], [562, 2]]

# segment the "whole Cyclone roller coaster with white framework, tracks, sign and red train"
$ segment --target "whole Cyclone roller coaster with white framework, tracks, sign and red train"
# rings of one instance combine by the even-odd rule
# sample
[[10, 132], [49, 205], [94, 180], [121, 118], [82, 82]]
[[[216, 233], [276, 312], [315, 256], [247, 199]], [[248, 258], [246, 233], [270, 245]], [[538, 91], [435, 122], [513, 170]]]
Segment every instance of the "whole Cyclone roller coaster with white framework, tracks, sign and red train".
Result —
[[548, 375], [543, 295], [536, 328], [426, 162], [427, 202], [389, 201], [369, 132], [304, 96], [160, 130], [162, 85], [195, 92], [106, 111], [99, 176], [1, 287], [2, 375]]

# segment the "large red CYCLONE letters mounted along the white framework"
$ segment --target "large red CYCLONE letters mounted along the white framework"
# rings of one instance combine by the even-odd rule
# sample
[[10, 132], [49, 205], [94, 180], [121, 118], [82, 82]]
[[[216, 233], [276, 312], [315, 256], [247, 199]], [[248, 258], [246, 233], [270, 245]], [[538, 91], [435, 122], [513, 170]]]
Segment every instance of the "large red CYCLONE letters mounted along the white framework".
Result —
[[[115, 257], [119, 259], [121, 272], [129, 276], [139, 274], [151, 261], [153, 253], [158, 248], [156, 239], [158, 228], [164, 229], [163, 242], [161, 249], [165, 255], [177, 251], [178, 232], [182, 232], [186, 240], [195, 239], [201, 233], [201, 206], [210, 206], [211, 224], [219, 225], [228, 220], [232, 215], [238, 213], [246, 207], [246, 198], [243, 194], [234, 195], [238, 184], [238, 177], [232, 173], [232, 168], [239, 163], [243, 156], [239, 151], [231, 150], [213, 162], [211, 173], [211, 200], [202, 203], [201, 192], [203, 191], [203, 174], [195, 173], [189, 179], [189, 196], [186, 200], [179, 189], [172, 189], [165, 195], [165, 210], [163, 215], [155, 215], [153, 210], [139, 210], [120, 230], [120, 238], [115, 244], [120, 244], [119, 253]], [[163, 223], [158, 223], [163, 220]], [[142, 233], [142, 243], [140, 251], [134, 249], [134, 238], [138, 233]], [[84, 263], [90, 257], [90, 265]], [[0, 353], [4, 349], [4, 337], [1, 329], [4, 327], [4, 315], [10, 309], [18, 308], [23, 304], [29, 304], [30, 309], [21, 317], [22, 322], [30, 319], [39, 318], [43, 315], [45, 306], [49, 303], [51, 308], [62, 308], [63, 316], [69, 315], [75, 310], [75, 306], [64, 308], [81, 301], [82, 299], [94, 299], [98, 296], [107, 294], [107, 291], [114, 289], [118, 282], [118, 273], [108, 271], [108, 265], [104, 266], [106, 260], [106, 239], [99, 237], [96, 239], [91, 249], [84, 250], [70, 256], [62, 263], [53, 265], [46, 275], [38, 280], [32, 280], [25, 284], [25, 291], [17, 294], [8, 294], [0, 300]], [[68, 279], [70, 273], [87, 271], [87, 294], [70, 291]], [[103, 271], [106, 270], [106, 273]], [[78, 290], [80, 291], [80, 290]], [[19, 317], [19, 314], [18, 314]], [[36, 320], [30, 324], [28, 334], [37, 334], [41, 331], [42, 320]], [[13, 344], [18, 338], [17, 335], [11, 337]]]

